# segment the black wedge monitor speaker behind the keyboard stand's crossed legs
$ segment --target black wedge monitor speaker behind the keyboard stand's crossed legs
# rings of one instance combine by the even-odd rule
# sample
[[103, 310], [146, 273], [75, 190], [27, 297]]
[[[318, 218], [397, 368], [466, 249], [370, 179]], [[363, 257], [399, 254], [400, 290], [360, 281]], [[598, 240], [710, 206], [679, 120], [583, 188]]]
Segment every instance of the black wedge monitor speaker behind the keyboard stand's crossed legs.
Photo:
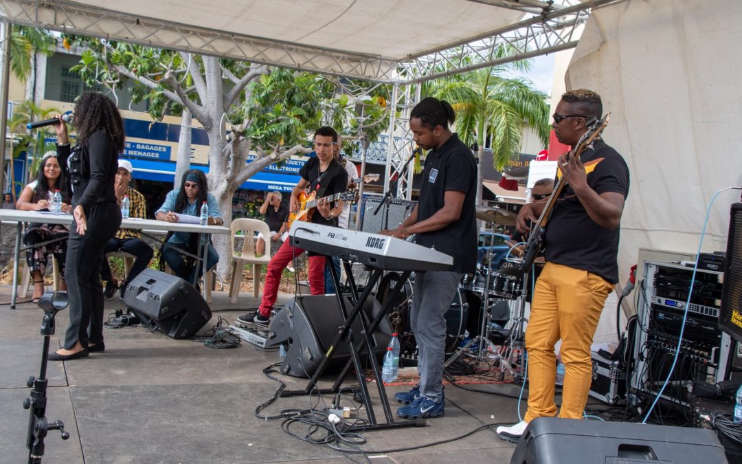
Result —
[[[347, 310], [352, 310], [352, 304], [345, 298]], [[368, 298], [364, 305], [364, 313], [369, 320], [381, 312], [381, 305], [375, 298]], [[360, 315], [358, 317], [361, 317]], [[305, 295], [297, 296], [286, 304], [273, 317], [269, 329], [270, 344], [285, 343], [286, 357], [280, 371], [294, 377], [311, 377], [324, 359], [339, 327], [343, 324], [341, 310], [335, 295]], [[355, 321], [352, 325], [355, 339], [361, 336], [361, 322]], [[378, 359], [384, 356], [387, 344], [391, 339], [392, 328], [386, 316], [379, 324], [374, 336], [374, 353]], [[361, 350], [361, 356], [367, 356], [368, 350]], [[335, 354], [330, 359], [325, 373], [341, 370], [350, 357], [347, 342], [341, 342]]]

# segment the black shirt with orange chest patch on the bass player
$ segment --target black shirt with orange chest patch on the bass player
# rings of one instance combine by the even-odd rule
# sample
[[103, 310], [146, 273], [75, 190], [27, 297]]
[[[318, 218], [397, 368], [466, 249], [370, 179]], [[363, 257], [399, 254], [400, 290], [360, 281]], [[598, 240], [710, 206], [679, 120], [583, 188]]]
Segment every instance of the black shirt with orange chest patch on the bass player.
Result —
[[[588, 174], [588, 185], [598, 195], [616, 192], [628, 196], [628, 166], [605, 142], [594, 143], [580, 157]], [[619, 228], [603, 229], [588, 216], [585, 207], [567, 185], [559, 195], [544, 238], [546, 261], [583, 269], [618, 282]]]

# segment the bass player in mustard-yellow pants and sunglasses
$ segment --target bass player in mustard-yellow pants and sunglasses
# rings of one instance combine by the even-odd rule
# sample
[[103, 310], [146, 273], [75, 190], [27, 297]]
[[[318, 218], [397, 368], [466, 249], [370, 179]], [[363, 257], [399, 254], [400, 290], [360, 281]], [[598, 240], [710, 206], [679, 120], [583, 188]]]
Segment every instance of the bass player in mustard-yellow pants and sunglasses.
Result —
[[[549, 201], [523, 206], [516, 220], [521, 232], [529, 230], [528, 220], [538, 220], [538, 232], [542, 212], [553, 206], [543, 235], [546, 264], [525, 331], [528, 411], [516, 425], [497, 428], [505, 440], [519, 439], [536, 417], [557, 416], [554, 345], [559, 339], [565, 364], [559, 417], [583, 418], [592, 376], [590, 347], [605, 298], [618, 282], [619, 226], [629, 183], [623, 157], [595, 132], [602, 113], [594, 91], [562, 94], [552, 126], [557, 140], [573, 147], [559, 158], [557, 178], [565, 182], [557, 183]], [[583, 135], [591, 131], [592, 142], [584, 143]]]

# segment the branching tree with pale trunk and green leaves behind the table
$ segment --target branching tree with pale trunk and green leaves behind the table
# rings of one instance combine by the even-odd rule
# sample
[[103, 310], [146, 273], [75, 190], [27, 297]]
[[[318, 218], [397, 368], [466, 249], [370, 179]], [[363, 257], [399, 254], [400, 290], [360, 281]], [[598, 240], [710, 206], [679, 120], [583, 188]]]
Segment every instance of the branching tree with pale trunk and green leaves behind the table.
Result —
[[[146, 100], [154, 120], [187, 111], [200, 122], [209, 135], [209, 192], [227, 223], [237, 188], [272, 163], [312, 151], [309, 136], [323, 118], [332, 120], [338, 107], [332, 103], [335, 85], [318, 74], [101, 39], [65, 39], [87, 48], [73, 68], [87, 85], [114, 91], [133, 82], [133, 101]], [[221, 256], [229, 256], [226, 243], [216, 245]], [[222, 261], [220, 269], [226, 269], [229, 263]]]

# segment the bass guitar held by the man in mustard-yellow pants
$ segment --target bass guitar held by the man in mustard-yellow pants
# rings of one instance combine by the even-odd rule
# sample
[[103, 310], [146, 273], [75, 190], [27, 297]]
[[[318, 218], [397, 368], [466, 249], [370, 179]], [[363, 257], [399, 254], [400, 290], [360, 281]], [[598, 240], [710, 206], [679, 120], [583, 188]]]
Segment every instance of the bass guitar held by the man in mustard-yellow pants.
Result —
[[[577, 145], [568, 152], [567, 160], [569, 160], [570, 157], [579, 158], [580, 155], [582, 155], [582, 152], [589, 148], [591, 144], [598, 137], [600, 137], [603, 129], [605, 129], [605, 127], [608, 125], [609, 120], [611, 120], [610, 113], [605, 114], [602, 120], [595, 120], [588, 131], [585, 132], [585, 134], [582, 134], [582, 137], [580, 137], [580, 141], [577, 142]], [[546, 200], [546, 205], [544, 206], [544, 209], [539, 216], [539, 220], [536, 222], [536, 225], [533, 226], [533, 229], [531, 229], [531, 235], [528, 236], [528, 241], [525, 243], [525, 250], [523, 251], [523, 262], [520, 264], [520, 270], [522, 272], [531, 272], [533, 261], [536, 261], [536, 255], [538, 255], [539, 249], [541, 248], [541, 245], [544, 241], [544, 236], [546, 235], [546, 226], [548, 220], [549, 218], [551, 218], [551, 213], [554, 212], [554, 206], [556, 206], [557, 204], [557, 198], [559, 197], [559, 195], [562, 195], [562, 191], [566, 186], [567, 180], [565, 179], [565, 176], [562, 175], [562, 177], [559, 177], [557, 185], [554, 186], [554, 190], [551, 192], [549, 199]]]

